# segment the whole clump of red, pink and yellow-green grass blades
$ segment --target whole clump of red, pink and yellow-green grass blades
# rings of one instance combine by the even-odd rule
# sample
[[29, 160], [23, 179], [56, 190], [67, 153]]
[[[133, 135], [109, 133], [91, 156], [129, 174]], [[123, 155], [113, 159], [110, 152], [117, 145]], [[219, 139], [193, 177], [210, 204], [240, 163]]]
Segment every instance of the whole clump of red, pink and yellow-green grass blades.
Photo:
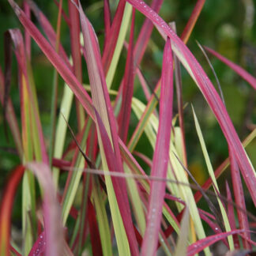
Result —
[[[244, 247], [250, 248], [252, 243], [249, 236], [250, 225], [246, 216], [246, 205], [243, 199], [244, 192], [241, 187], [239, 170], [242, 172], [250, 196], [255, 203], [254, 169], [247, 159], [224, 104], [222, 104], [220, 97], [201, 66], [183, 43], [183, 41], [186, 43], [189, 39], [205, 1], [198, 0], [195, 5], [183, 32], [182, 41], [172, 32], [168, 24], [165, 24], [157, 15], [163, 3], [162, 0], [153, 0], [151, 8], [146, 6], [143, 1], [128, 0], [126, 2], [120, 0], [113, 19], [111, 19], [110, 3], [104, 0], [105, 37], [103, 57], [100, 55], [96, 33], [88, 17], [85, 16], [81, 3], [77, 0], [69, 1], [69, 16], [67, 17], [62, 9], [62, 2], [60, 2], [58, 3], [58, 13], [62, 13], [70, 28], [70, 56], [72, 58], [72, 60], [70, 58], [70, 61], [67, 57], [69, 55], [66, 54], [60, 42], [60, 14], [55, 32], [47, 17], [31, 0], [26, 1], [24, 11], [13, 0], [9, 0], [9, 3], [25, 28], [25, 46], [23, 46], [23, 38], [19, 30], [10, 30], [9, 37], [7, 37], [7, 40], [12, 39], [14, 42], [19, 66], [22, 145], [21, 140], [19, 140], [15, 114], [14, 111], [11, 111], [11, 102], [8, 97], [7, 101], [4, 97], [1, 97], [1, 101], [6, 106], [6, 111], [10, 113], [10, 117], [6, 116], [6, 119], [15, 138], [21, 161], [24, 165], [26, 164], [25, 166], [32, 169], [38, 177], [43, 197], [44, 221], [41, 224], [39, 221], [37, 225], [36, 221], [40, 220], [41, 211], [39, 204], [38, 215], [36, 215], [37, 193], [34, 188], [34, 175], [30, 171], [25, 171], [22, 188], [24, 201], [22, 207], [23, 254], [81, 255], [84, 252], [88, 253], [92, 248], [92, 254], [95, 255], [113, 255], [118, 251], [119, 255], [141, 254], [145, 256], [156, 255], [158, 248], [161, 247], [166, 255], [171, 255], [173, 249], [169, 244], [168, 236], [173, 231], [179, 235], [175, 243], [175, 255], [179, 252], [182, 252], [183, 255], [192, 255], [201, 250], [205, 250], [205, 254], [209, 255], [211, 244], [224, 240], [229, 235], [238, 234], [243, 237]], [[32, 23], [30, 9], [36, 14], [35, 16], [47, 38]], [[134, 9], [133, 12], [132, 9]], [[141, 27], [136, 43], [134, 43], [135, 9], [147, 17]], [[130, 24], [132, 13], [133, 17]], [[166, 43], [162, 76], [150, 96], [149, 89], [142, 79], [144, 70], [138, 70], [138, 66], [144, 57], [146, 47], [149, 46], [148, 41], [154, 25], [164, 36]], [[129, 28], [130, 40], [126, 44], [126, 33]], [[80, 43], [81, 32], [84, 43]], [[53, 127], [52, 140], [55, 141], [55, 147], [51, 150], [53, 156], [58, 158], [57, 160], [53, 158], [52, 164], [51, 152], [49, 154], [50, 164], [48, 163], [47, 150], [44, 145], [45, 137], [43, 137], [40, 123], [40, 111], [37, 107], [36, 85], [34, 85], [32, 79], [30, 36], [54, 66], [55, 73], [58, 72], [66, 83], [57, 129], [54, 125], [54, 119], [51, 120], [51, 126]], [[126, 71], [122, 77], [122, 85], [116, 92], [110, 90], [110, 88], [113, 84], [113, 77], [116, 73], [119, 73], [117, 66], [124, 45], [128, 49]], [[10, 51], [10, 47], [8, 50]], [[84, 71], [81, 65], [83, 54], [85, 55], [89, 77], [89, 89], [82, 85], [84, 80]], [[216, 115], [216, 119], [227, 138], [232, 162], [233, 189], [236, 189], [237, 215], [241, 222], [239, 227], [241, 229], [239, 230], [235, 229], [234, 220], [232, 220], [231, 228], [228, 227], [227, 216], [219, 199], [220, 208], [223, 207], [221, 213], [225, 220], [226, 232], [220, 232], [215, 216], [198, 208], [197, 201], [200, 194], [193, 194], [184, 168], [184, 166], [186, 167], [185, 145], [183, 147], [180, 145], [181, 143], [184, 144], [185, 141], [184, 129], [178, 126], [176, 119], [173, 119], [172, 56], [179, 58], [179, 61], [190, 73], [209, 103], [209, 107]], [[7, 62], [6, 64], [6, 68], [9, 70], [10, 65]], [[179, 62], [175, 59], [175, 72], [179, 69], [178, 66]], [[234, 70], [239, 73], [239, 69]], [[141, 86], [147, 96], [146, 104], [133, 97], [135, 73], [139, 73], [141, 84], [143, 84]], [[7, 75], [4, 77], [5, 79], [3, 79], [3, 76], [0, 76], [0, 78], [0, 85], [4, 81], [7, 81], [6, 84], [9, 83]], [[181, 78], [180, 72], [176, 73], [176, 80], [180, 80], [179, 83], [181, 83]], [[179, 87], [181, 88], [181, 84]], [[0, 88], [2, 90], [2, 85]], [[111, 102], [111, 93], [113, 94], [111, 97], [115, 98], [113, 103]], [[179, 102], [180, 114], [183, 108], [181, 90], [179, 93], [179, 100], [181, 100]], [[66, 122], [62, 115], [69, 119], [73, 95], [76, 97], [77, 106], [76, 143], [71, 142], [65, 147]], [[53, 115], [57, 114], [55, 103], [58, 102], [58, 97], [58, 93], [56, 93], [54, 104], [51, 107]], [[156, 107], [158, 103], [160, 104], [160, 111]], [[129, 137], [127, 134], [130, 131], [131, 111], [136, 115], [138, 122], [136, 129], [133, 133], [130, 133], [132, 136]], [[180, 119], [179, 122], [181, 122]], [[213, 173], [208, 152], [198, 127], [197, 125], [196, 130], [199, 137], [201, 137], [202, 149], [212, 178], [203, 187], [208, 188], [213, 183], [216, 189], [216, 198], [220, 198], [215, 176], [217, 178], [227, 168], [228, 160]], [[152, 171], [149, 176], [135, 160], [135, 154], [132, 155], [141, 140], [141, 134], [144, 132], [149, 139], [149, 145], [153, 152]], [[129, 141], [126, 145], [127, 137]], [[247, 143], [253, 137], [255, 137], [255, 132], [249, 135]], [[77, 145], [80, 149], [77, 148]], [[85, 159], [88, 159], [92, 165], [87, 166], [80, 150], [86, 152]], [[144, 152], [139, 152], [139, 154], [145, 156]], [[36, 163], [27, 164], [35, 160]], [[57, 162], [60, 169], [53, 166]], [[70, 171], [67, 178], [63, 175], [59, 179], [59, 170], [65, 168], [64, 165], [65, 167], [68, 166]], [[92, 166], [96, 168], [94, 172]], [[84, 169], [88, 167], [89, 169]], [[104, 171], [100, 172], [102, 169]], [[51, 170], [53, 171], [52, 175]], [[88, 172], [92, 171], [92, 174], [84, 175], [83, 182], [81, 182], [81, 177], [86, 170]], [[65, 184], [62, 192], [63, 185], [61, 183], [63, 180]], [[15, 179], [11, 181], [14, 183]], [[80, 184], [83, 187], [84, 195], [82, 202], [78, 202], [77, 205], [75, 199], [80, 198]], [[17, 180], [15, 186], [17, 186]], [[169, 196], [170, 194], [171, 196]], [[12, 198], [8, 198], [7, 202], [6, 200], [2, 201], [2, 209], [6, 206], [6, 209], [10, 211], [9, 205], [13, 203], [14, 194], [11, 194], [11, 196]], [[232, 200], [230, 195], [228, 195], [228, 198]], [[175, 204], [173, 204], [174, 211], [168, 205], [167, 200], [175, 201]], [[184, 206], [186, 206], [186, 210], [184, 210]], [[243, 211], [239, 211], [239, 209], [243, 209]], [[230, 207], [228, 211], [230, 211]], [[189, 215], [193, 220], [192, 224], [191, 222], [189, 224]], [[213, 232], [216, 232], [217, 228], [216, 235], [209, 236], [207, 230], [203, 228], [201, 220], [205, 220], [209, 228], [213, 229]], [[9, 218], [6, 221], [7, 226], [10, 227]], [[74, 228], [70, 224], [72, 221], [75, 223]], [[65, 225], [69, 231], [66, 241], [62, 225]], [[196, 235], [194, 235], [193, 229]], [[228, 232], [229, 230], [231, 231]], [[70, 235], [71, 233], [73, 235]], [[0, 236], [1, 250], [8, 255], [9, 228], [5, 229], [1, 225], [0, 234], [4, 234]], [[43, 238], [41, 238], [41, 235]], [[194, 238], [191, 238], [191, 235], [194, 235]], [[196, 242], [194, 243], [195, 239]], [[232, 249], [232, 237], [229, 236], [228, 239], [230, 249]], [[69, 243], [69, 246], [66, 242]], [[227, 244], [225, 240], [224, 243]], [[242, 248], [239, 245], [236, 245], [235, 248], [238, 247]], [[179, 248], [183, 249], [179, 250]]]

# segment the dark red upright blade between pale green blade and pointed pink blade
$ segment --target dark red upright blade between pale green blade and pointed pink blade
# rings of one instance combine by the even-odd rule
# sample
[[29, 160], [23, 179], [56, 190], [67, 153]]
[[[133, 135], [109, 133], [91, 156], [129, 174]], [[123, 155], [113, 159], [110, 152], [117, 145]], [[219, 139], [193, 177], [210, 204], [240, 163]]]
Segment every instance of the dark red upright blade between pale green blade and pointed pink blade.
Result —
[[119, 112], [119, 137], [126, 143], [129, 124], [131, 102], [134, 94], [134, 24], [135, 24], [135, 9], [133, 9], [132, 23], [130, 27], [130, 40], [128, 53], [126, 58], [126, 70], [124, 74], [124, 81], [122, 86], [122, 105]]

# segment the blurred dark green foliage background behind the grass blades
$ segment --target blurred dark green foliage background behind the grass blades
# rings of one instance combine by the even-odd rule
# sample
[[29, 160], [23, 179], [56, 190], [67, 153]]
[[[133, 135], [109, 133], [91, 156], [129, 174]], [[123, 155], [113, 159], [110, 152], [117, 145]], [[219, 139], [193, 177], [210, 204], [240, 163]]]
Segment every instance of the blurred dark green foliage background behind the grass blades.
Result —
[[[21, 4], [21, 1], [17, 1]], [[53, 1], [37, 0], [36, 4], [45, 13], [55, 27], [57, 21], [58, 8]], [[110, 0], [112, 11], [118, 1]], [[81, 1], [85, 13], [92, 22], [96, 33], [100, 40], [100, 46], [104, 42], [104, 18], [103, 18], [103, 1], [85, 0]], [[177, 32], [179, 35], [183, 32], [183, 28], [190, 17], [196, 1], [191, 0], [168, 0], [164, 1], [160, 9], [160, 15], [165, 21], [175, 21]], [[63, 1], [64, 9], [67, 12], [67, 1]], [[221, 55], [229, 58], [233, 62], [239, 64], [252, 75], [256, 76], [256, 21], [255, 21], [256, 0], [206, 0], [205, 6], [194, 28], [194, 31], [187, 43], [188, 47], [204, 67], [209, 78], [216, 85], [213, 73], [205, 60], [205, 57], [198, 48], [196, 40], [201, 45], [206, 45], [218, 51]], [[112, 13], [113, 14], [113, 13]], [[32, 21], [37, 23], [35, 17], [32, 16]], [[62, 20], [63, 21], [63, 20]], [[138, 35], [144, 17], [137, 12], [135, 35]], [[3, 33], [9, 28], [23, 28], [17, 17], [13, 13], [13, 9], [9, 6], [7, 0], [0, 1], [0, 65], [4, 70], [4, 47]], [[62, 22], [61, 33], [62, 45], [66, 52], [70, 55], [70, 34], [65, 22]], [[156, 29], [152, 32], [152, 37], [149, 42], [149, 47], [145, 52], [145, 56], [141, 62], [141, 71], [145, 75], [149, 85], [154, 88], [156, 81], [160, 78], [162, 52], [164, 49], [164, 40], [160, 37]], [[228, 66], [225, 66], [216, 58], [209, 56], [219, 77], [221, 88], [224, 92], [224, 99], [228, 108], [228, 113], [234, 122], [235, 129], [239, 137], [243, 140], [247, 134], [255, 127], [256, 123], [256, 107], [255, 107], [255, 92], [254, 89], [243, 81], [234, 71]], [[119, 87], [119, 82], [122, 78], [124, 66], [126, 62], [126, 51], [122, 52], [119, 62], [119, 72], [115, 76], [113, 88]], [[50, 136], [50, 110], [51, 110], [51, 85], [53, 80], [53, 68], [44, 57], [36, 43], [32, 41], [32, 70], [36, 81], [36, 88], [40, 104], [40, 117], [43, 123], [43, 132], [46, 137], [46, 142]], [[83, 63], [84, 81], [88, 82], [86, 75], [85, 62]], [[190, 104], [194, 105], [198, 115], [201, 129], [205, 137], [209, 156], [213, 167], [216, 168], [228, 156], [228, 147], [224, 140], [224, 136], [218, 126], [216, 119], [206, 104], [201, 92], [194, 84], [186, 70], [182, 69], [183, 73], [183, 102], [188, 103], [184, 111], [185, 129], [186, 129], [186, 147], [187, 155], [190, 164], [190, 170], [195, 177], [202, 183], [207, 175], [205, 171], [205, 162], [202, 156], [201, 147], [198, 143], [198, 137], [194, 129], [194, 120]], [[59, 79], [59, 95], [62, 94], [62, 80]], [[134, 87], [134, 95], [145, 102], [145, 96], [136, 79]], [[17, 62], [13, 57], [13, 77], [11, 87], [11, 99], [15, 107], [17, 116], [19, 117], [19, 94], [17, 85]], [[174, 111], [177, 113], [176, 99], [174, 103]], [[73, 110], [74, 114], [74, 110]], [[76, 126], [75, 115], [71, 115], [70, 124]], [[131, 117], [130, 132], [133, 132], [137, 120], [134, 115]], [[4, 178], [9, 171], [19, 163], [17, 156], [8, 152], [7, 149], [13, 149], [13, 141], [9, 133], [9, 141], [4, 134], [2, 107], [0, 112], [0, 172]], [[137, 146], [138, 151], [145, 152], [148, 147], [148, 141], [145, 137]], [[148, 156], [152, 156], [150, 147], [146, 151]], [[247, 152], [256, 167], [256, 140], [254, 140], [247, 148]], [[226, 178], [228, 178], [228, 171]], [[224, 181], [224, 179], [221, 179]], [[1, 186], [4, 179], [1, 179]]]

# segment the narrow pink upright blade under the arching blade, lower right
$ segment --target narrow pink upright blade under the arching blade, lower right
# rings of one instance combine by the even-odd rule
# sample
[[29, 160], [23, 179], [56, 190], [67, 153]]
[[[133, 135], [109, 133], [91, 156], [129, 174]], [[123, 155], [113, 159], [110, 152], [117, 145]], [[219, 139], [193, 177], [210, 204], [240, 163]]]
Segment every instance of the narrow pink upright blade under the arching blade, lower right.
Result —
[[[241, 210], [237, 209], [237, 216], [239, 219], [239, 227], [243, 230], [250, 230], [249, 229], [249, 223], [247, 214], [244, 213], [247, 210], [246, 202], [244, 199], [244, 193], [243, 193], [243, 185], [242, 180], [239, 173], [239, 166], [235, 161], [235, 157], [233, 156], [233, 153], [230, 151], [230, 164], [231, 164], [231, 173], [232, 173], [232, 184], [235, 194], [235, 204], [239, 206], [240, 209], [244, 209], [242, 212]], [[247, 239], [250, 239], [250, 233], [246, 232], [243, 234]], [[246, 239], [243, 240], [243, 247], [246, 249], [251, 249], [251, 246], [249, 243], [247, 243]]]

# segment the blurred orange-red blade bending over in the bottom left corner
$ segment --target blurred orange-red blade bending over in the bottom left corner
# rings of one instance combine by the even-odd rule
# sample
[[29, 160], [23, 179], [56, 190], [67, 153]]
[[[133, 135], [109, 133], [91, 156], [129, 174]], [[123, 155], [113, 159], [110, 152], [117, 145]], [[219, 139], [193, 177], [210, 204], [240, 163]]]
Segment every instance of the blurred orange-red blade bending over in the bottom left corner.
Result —
[[0, 254], [9, 256], [11, 216], [15, 192], [24, 174], [24, 166], [15, 168], [6, 183], [0, 206]]

